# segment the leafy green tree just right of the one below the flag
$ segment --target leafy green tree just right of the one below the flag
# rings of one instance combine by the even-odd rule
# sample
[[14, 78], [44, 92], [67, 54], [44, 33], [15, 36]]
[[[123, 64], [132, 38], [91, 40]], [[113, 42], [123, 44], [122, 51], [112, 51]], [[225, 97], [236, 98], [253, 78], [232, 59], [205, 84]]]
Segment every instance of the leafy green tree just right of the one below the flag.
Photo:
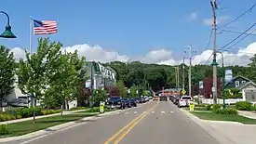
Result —
[[67, 110], [68, 101], [77, 98], [79, 85], [86, 81], [86, 77], [83, 76], [85, 75], [85, 70], [83, 69], [85, 58], [78, 59], [77, 51], [61, 54], [59, 52], [61, 47], [55, 48], [59, 49], [56, 50], [57, 53], [53, 54], [52, 57], [47, 57], [47, 78], [49, 84], [47, 92], [52, 94], [51, 92], [59, 91], [58, 96], [62, 99], [62, 106], [65, 105]]

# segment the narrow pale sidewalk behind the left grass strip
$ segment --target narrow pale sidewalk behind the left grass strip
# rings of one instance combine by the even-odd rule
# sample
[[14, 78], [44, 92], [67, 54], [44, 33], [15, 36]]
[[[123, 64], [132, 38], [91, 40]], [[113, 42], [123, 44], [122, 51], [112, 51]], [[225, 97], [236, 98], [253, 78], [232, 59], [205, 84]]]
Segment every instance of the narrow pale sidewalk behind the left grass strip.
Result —
[[[66, 115], [66, 114], [71, 114], [71, 113], [79, 112], [79, 111], [88, 111], [88, 109], [76, 110], [76, 111], [63, 111], [63, 114]], [[46, 117], [51, 117], [51, 116], [56, 116], [56, 115], [61, 115], [61, 112], [60, 113], [54, 113], [54, 114], [48, 114], [48, 115], [35, 116], [35, 119], [46, 118]], [[0, 124], [13, 124], [13, 123], [19, 123], [19, 122], [30, 121], [30, 120], [33, 120], [33, 117], [0, 122]]]

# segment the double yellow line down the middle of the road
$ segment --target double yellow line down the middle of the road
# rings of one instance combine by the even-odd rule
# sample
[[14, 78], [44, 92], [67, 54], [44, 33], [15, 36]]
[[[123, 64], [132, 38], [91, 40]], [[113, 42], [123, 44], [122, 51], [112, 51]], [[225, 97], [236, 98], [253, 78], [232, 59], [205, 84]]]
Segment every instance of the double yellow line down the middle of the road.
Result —
[[[143, 112], [141, 115], [137, 116], [135, 119], [133, 119], [130, 123], [128, 123], [125, 127], [118, 130], [115, 135], [110, 137], [107, 141], [104, 142], [104, 144], [109, 144], [111, 141], [114, 141], [114, 144], [118, 144], [124, 137], [128, 135], [128, 133], [141, 122], [141, 120], [148, 114], [149, 111], [153, 111], [155, 107], [158, 105], [157, 103], [154, 105], [154, 107], [150, 108], [148, 111]], [[118, 137], [119, 136], [119, 137]], [[116, 138], [117, 137], [117, 138]]]

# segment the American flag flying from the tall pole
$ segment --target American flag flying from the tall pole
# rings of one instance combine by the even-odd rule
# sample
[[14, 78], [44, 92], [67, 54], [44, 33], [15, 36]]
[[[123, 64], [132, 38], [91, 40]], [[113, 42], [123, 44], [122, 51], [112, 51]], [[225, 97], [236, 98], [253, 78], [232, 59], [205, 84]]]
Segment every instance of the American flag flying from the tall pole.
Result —
[[57, 33], [57, 21], [55, 20], [33, 20], [34, 35]]

